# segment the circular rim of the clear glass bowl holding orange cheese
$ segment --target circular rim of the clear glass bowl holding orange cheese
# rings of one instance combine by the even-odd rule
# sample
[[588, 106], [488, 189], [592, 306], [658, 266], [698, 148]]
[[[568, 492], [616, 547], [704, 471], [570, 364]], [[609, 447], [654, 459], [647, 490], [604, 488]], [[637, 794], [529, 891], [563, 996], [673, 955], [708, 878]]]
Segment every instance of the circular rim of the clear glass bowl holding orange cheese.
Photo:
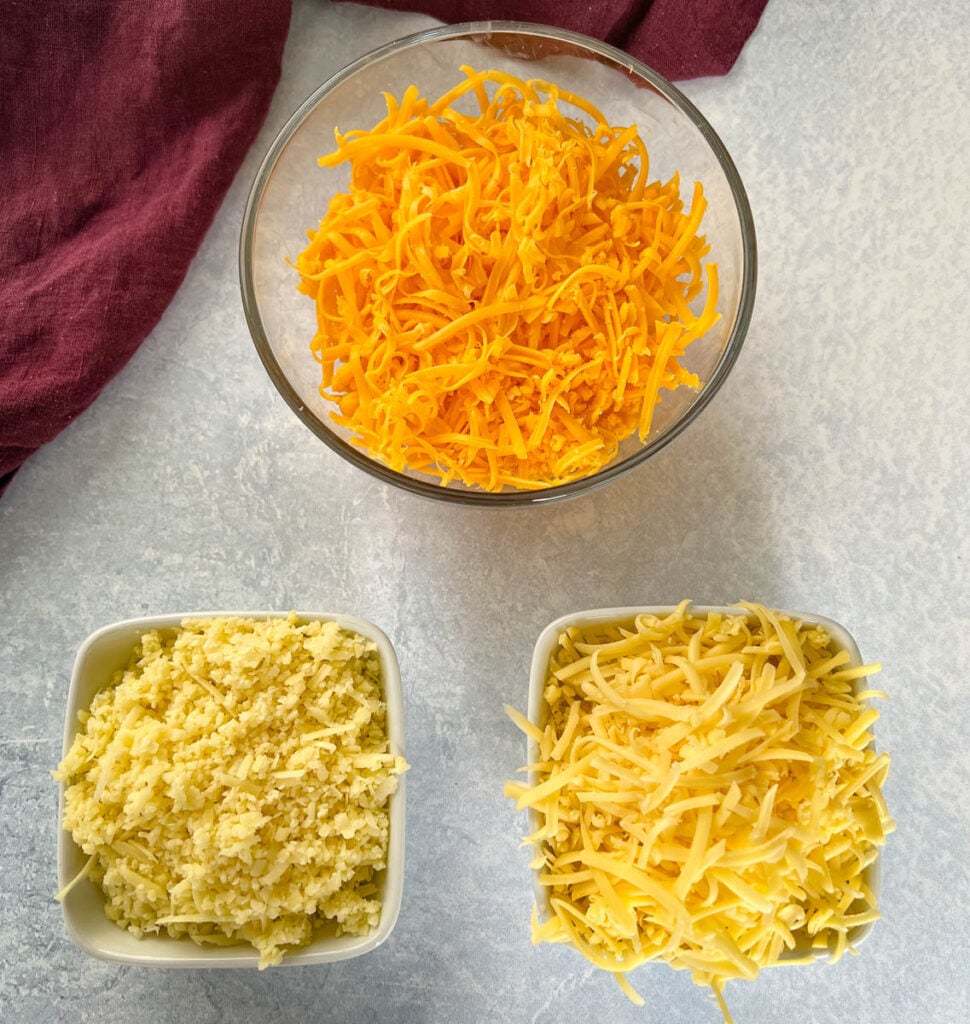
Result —
[[[710, 380], [697, 394], [690, 404], [677, 417], [677, 419], [659, 436], [648, 441], [633, 455], [622, 461], [614, 461], [592, 476], [582, 477], [567, 483], [557, 484], [552, 487], [545, 487], [538, 490], [501, 490], [487, 492], [480, 489], [459, 489], [434, 483], [427, 479], [420, 479], [398, 473], [390, 467], [372, 459], [362, 452], [356, 445], [349, 443], [342, 437], [338, 437], [329, 427], [323, 424], [300, 399], [295, 388], [287, 380], [286, 374], [277, 361], [272, 353], [272, 348], [263, 328], [262, 317], [259, 312], [259, 305], [256, 299], [255, 283], [253, 280], [253, 251], [255, 247], [255, 226], [259, 215], [263, 190], [269, 181], [277, 163], [283, 154], [284, 148], [293, 136], [297, 128], [313, 108], [323, 100], [330, 92], [336, 89], [341, 83], [352, 77], [361, 69], [373, 63], [375, 60], [383, 59], [393, 53], [397, 53], [425, 43], [433, 43], [438, 40], [452, 40], [459, 38], [473, 38], [476, 36], [497, 36], [497, 35], [528, 35], [546, 39], [553, 39], [559, 42], [568, 43], [578, 48], [596, 54], [610, 62], [615, 68], [623, 69], [628, 74], [636, 74], [645, 80], [665, 98], [677, 106], [687, 116], [689, 121], [704, 137], [718, 164], [727, 179], [731, 197], [741, 225], [741, 246], [742, 246], [742, 274], [741, 292], [739, 300], [737, 315], [731, 333], [724, 346], [720, 358], [717, 361]], [[631, 54], [620, 50], [608, 43], [593, 39], [582, 33], [572, 32], [566, 29], [553, 28], [545, 25], [533, 25], [525, 22], [515, 20], [478, 20], [464, 22], [458, 25], [446, 25], [439, 28], [426, 29], [415, 32], [411, 35], [392, 40], [389, 43], [379, 46], [365, 53], [363, 56], [346, 65], [336, 74], [330, 76], [322, 85], [313, 90], [303, 100], [296, 111], [289, 117], [283, 128], [277, 134], [270, 144], [266, 155], [256, 171], [247, 197], [246, 206], [243, 213], [243, 223], [240, 232], [239, 244], [239, 272], [240, 288], [242, 292], [243, 309], [246, 314], [246, 322], [249, 326], [250, 334], [256, 347], [260, 360], [269, 375], [270, 380], [276, 385], [277, 390], [286, 400], [293, 413], [313, 434], [324, 441], [331, 450], [342, 456], [346, 461], [363, 469], [371, 476], [402, 487], [413, 494], [422, 495], [426, 498], [436, 499], [453, 504], [500, 508], [505, 506], [542, 505], [563, 498], [570, 498], [579, 494], [586, 494], [608, 483], [610, 480], [624, 475], [636, 467], [642, 465], [652, 456], [663, 451], [704, 412], [714, 395], [720, 390], [721, 385], [727, 379], [731, 368], [737, 359], [742, 346], [747, 336], [748, 329], [754, 310], [755, 294], [757, 290], [757, 238], [755, 232], [754, 218], [751, 212], [751, 205], [748, 195], [742, 182], [741, 175], [734, 165], [726, 146], [721, 141], [717, 132], [700, 112], [700, 110], [680, 91], [672, 82], [668, 81], [658, 72], [653, 71], [641, 60], [637, 60]]]

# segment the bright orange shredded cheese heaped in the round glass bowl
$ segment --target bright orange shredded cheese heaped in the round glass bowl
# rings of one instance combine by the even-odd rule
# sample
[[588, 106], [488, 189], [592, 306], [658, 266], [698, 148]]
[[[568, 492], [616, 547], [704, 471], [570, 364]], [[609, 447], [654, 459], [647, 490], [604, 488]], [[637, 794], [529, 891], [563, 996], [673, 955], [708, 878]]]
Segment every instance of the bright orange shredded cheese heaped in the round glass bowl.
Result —
[[537, 489], [597, 472], [646, 438], [662, 389], [699, 385], [680, 357], [719, 315], [706, 200], [650, 181], [636, 126], [581, 96], [462, 71], [336, 133], [320, 163], [350, 185], [298, 287], [355, 444], [442, 484]]

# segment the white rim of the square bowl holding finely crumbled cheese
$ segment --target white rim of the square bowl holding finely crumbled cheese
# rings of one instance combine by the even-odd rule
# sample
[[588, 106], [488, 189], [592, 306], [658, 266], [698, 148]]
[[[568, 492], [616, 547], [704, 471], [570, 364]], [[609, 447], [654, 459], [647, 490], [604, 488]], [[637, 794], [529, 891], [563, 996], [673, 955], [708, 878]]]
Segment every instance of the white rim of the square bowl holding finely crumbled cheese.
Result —
[[[343, 612], [325, 611], [300, 611], [294, 613], [301, 623], [306, 622], [334, 622], [343, 630], [359, 633], [361, 636], [373, 640], [377, 646], [381, 660], [381, 681], [383, 684], [384, 702], [387, 708], [387, 738], [389, 750], [392, 754], [405, 757], [405, 715], [404, 695], [400, 681], [400, 669], [393, 644], [387, 635], [375, 623], [367, 618]], [[157, 615], [141, 615], [134, 618], [124, 618], [91, 633], [78, 648], [75, 656], [74, 668], [71, 674], [71, 683], [65, 708], [64, 737], [61, 742], [62, 760], [71, 748], [74, 737], [78, 732], [77, 713], [86, 709], [94, 694], [99, 692], [110, 682], [111, 674], [98, 681], [97, 685], [85, 685], [88, 681], [90, 671], [89, 663], [99, 643], [110, 642], [114, 638], [121, 637], [130, 639], [129, 653], [134, 648], [138, 639], [151, 630], [173, 630], [181, 626], [185, 620], [208, 620], [208, 618], [254, 618], [265, 621], [267, 618], [286, 618], [290, 614], [290, 609], [286, 611], [198, 611], [198, 612], [169, 612]], [[124, 663], [119, 665], [122, 668]], [[86, 697], [84, 693], [90, 690]], [[59, 763], [59, 762], [58, 762]], [[349, 959], [360, 956], [372, 949], [376, 949], [391, 934], [400, 913], [400, 905], [404, 895], [404, 871], [405, 871], [405, 834], [406, 834], [406, 792], [407, 773], [397, 776], [397, 787], [388, 800], [389, 815], [389, 836], [387, 842], [387, 866], [384, 869], [384, 898], [381, 906], [381, 916], [376, 928], [363, 936], [340, 936], [339, 938], [318, 938], [309, 945], [287, 952], [279, 967], [300, 967], [313, 964], [331, 964], [341, 959]], [[67, 783], [57, 783], [57, 887], [62, 889], [75, 876], [75, 870], [70, 867], [72, 860], [78, 857], [83, 858], [84, 854], [78, 848], [70, 831], [62, 827], [64, 803], [67, 792]], [[90, 933], [87, 924], [89, 914], [79, 910], [77, 901], [72, 900], [72, 896], [83, 886], [93, 889], [96, 898], [100, 900], [100, 893], [89, 880], [82, 880], [76, 889], [72, 889], [61, 901], [61, 912], [64, 914], [65, 928], [68, 935], [83, 952], [97, 959], [115, 964], [134, 964], [141, 967], [162, 967], [162, 968], [255, 968], [259, 963], [259, 953], [244, 943], [234, 946], [202, 947], [197, 946], [191, 940], [183, 938], [173, 939], [168, 935], [146, 937], [145, 940], [138, 939], [129, 932], [117, 928], [117, 936], [109, 933], [112, 939], [117, 938], [117, 942], [98, 942]], [[89, 890], [90, 891], [90, 890]], [[102, 900], [100, 900], [103, 902]], [[151, 952], [146, 948], [138, 948], [142, 942], [150, 941], [153, 945], [169, 945], [178, 943], [182, 955]], [[317, 946], [318, 948], [314, 948]], [[187, 951], [187, 953], [186, 953]]]

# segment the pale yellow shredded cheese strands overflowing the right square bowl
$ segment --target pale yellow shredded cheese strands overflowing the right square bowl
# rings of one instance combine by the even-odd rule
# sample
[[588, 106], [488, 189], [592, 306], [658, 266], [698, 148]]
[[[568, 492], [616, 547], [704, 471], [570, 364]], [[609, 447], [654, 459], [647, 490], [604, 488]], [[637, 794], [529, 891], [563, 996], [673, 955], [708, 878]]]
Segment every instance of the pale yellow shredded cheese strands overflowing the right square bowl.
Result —
[[[723, 988], [765, 967], [838, 959], [879, 914], [894, 827], [870, 731], [877, 690], [818, 626], [758, 604], [565, 630], [533, 723], [534, 942], [626, 972], [662, 961]], [[547, 905], [543, 905], [545, 902]], [[541, 914], [541, 918], [540, 918]]]

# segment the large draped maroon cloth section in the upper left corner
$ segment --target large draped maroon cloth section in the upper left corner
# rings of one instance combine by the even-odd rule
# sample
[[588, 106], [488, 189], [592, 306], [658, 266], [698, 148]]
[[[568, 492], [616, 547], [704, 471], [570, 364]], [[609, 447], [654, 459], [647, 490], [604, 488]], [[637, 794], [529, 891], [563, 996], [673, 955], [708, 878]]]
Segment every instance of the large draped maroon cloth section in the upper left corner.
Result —
[[290, 0], [6, 0], [0, 492], [152, 331], [263, 122]]

